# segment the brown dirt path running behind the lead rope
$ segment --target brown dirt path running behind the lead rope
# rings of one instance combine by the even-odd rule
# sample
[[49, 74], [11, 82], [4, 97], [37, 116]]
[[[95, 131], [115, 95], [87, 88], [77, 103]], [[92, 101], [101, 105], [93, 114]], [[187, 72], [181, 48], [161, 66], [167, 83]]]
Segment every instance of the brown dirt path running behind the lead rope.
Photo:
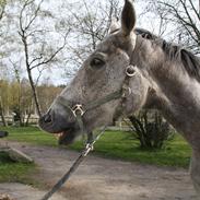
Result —
[[[78, 156], [75, 152], [54, 148], [26, 145], [21, 146], [21, 150], [39, 165], [42, 174], [38, 178], [48, 187], [66, 173]], [[2, 186], [0, 185], [0, 192]], [[66, 200], [197, 200], [189, 174], [185, 169], [140, 165], [92, 155], [64, 185], [60, 195]], [[20, 198], [32, 199], [37, 200]]]

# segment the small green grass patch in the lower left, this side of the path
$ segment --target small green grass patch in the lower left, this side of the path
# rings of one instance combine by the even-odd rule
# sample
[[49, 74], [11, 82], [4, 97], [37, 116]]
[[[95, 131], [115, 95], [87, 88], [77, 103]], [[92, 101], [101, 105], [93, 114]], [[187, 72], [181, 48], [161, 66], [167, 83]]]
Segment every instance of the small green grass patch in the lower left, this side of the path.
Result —
[[0, 183], [36, 184], [33, 174], [37, 172], [35, 164], [13, 162], [7, 153], [0, 153]]

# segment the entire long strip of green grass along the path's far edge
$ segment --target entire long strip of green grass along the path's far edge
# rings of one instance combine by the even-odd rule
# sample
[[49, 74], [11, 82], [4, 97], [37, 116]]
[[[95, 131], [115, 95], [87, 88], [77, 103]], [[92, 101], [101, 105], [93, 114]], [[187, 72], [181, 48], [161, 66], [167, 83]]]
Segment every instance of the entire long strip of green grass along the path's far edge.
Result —
[[[58, 146], [57, 140], [49, 133], [40, 131], [38, 128], [1, 128], [8, 130], [9, 140], [28, 142], [36, 145]], [[72, 150], [82, 150], [83, 142], [78, 141], [70, 146]], [[167, 142], [163, 150], [148, 151], [139, 148], [139, 142], [133, 140], [131, 133], [120, 131], [106, 131], [95, 144], [93, 152], [101, 156], [120, 158], [123, 161], [140, 162], [158, 166], [188, 167], [191, 150], [185, 140], [177, 136]]]

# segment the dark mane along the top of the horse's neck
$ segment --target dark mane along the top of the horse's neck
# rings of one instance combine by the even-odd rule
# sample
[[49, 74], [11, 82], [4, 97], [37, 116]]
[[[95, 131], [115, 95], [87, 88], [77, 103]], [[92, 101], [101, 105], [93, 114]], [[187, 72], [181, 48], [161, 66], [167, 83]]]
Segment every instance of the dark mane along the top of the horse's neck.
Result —
[[200, 58], [195, 56], [191, 51], [186, 50], [184, 47], [167, 43], [165, 39], [152, 34], [143, 28], [136, 28], [136, 34], [141, 35], [143, 38], [152, 40], [156, 45], [161, 46], [163, 51], [170, 60], [180, 61], [185, 70], [191, 78], [195, 78], [200, 82]]

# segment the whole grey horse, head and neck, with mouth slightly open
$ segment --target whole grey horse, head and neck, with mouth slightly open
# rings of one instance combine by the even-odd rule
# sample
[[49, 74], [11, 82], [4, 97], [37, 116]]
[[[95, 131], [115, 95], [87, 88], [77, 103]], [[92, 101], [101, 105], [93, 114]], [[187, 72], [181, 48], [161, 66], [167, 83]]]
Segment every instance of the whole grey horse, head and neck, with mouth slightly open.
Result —
[[[200, 198], [200, 60], [134, 26], [134, 8], [126, 0], [121, 24], [110, 26], [108, 36], [39, 119], [39, 126], [60, 133], [60, 143], [68, 144], [82, 132], [77, 113], [81, 113], [85, 131], [91, 132], [121, 115], [156, 108], [192, 148], [190, 174]], [[120, 97], [107, 98], [125, 86]], [[93, 102], [96, 106], [84, 110]]]

